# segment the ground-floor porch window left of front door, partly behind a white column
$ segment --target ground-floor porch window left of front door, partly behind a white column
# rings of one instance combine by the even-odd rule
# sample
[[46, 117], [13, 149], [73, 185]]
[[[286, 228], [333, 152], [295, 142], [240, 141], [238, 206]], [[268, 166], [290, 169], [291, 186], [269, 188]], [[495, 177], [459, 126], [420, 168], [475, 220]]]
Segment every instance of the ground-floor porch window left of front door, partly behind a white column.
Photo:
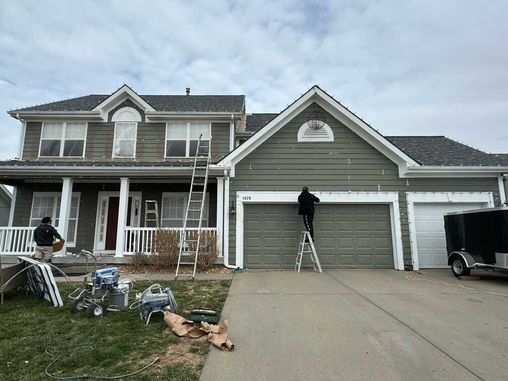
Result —
[[[71, 198], [71, 210], [69, 211], [69, 228], [67, 232], [67, 243], [76, 243], [78, 230], [80, 193], [73, 192]], [[58, 229], [60, 215], [61, 193], [34, 192], [32, 208], [30, 213], [30, 226], [37, 227], [44, 217], [51, 217], [53, 226]]]

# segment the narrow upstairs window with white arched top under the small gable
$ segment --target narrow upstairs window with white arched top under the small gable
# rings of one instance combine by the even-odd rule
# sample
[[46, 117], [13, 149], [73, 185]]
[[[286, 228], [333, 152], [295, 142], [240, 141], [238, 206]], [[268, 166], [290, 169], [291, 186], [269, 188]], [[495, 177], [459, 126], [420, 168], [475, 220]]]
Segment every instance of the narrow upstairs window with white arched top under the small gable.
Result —
[[113, 157], [135, 157], [136, 137], [141, 114], [132, 107], [122, 107], [115, 111], [111, 117], [115, 122], [113, 139]]

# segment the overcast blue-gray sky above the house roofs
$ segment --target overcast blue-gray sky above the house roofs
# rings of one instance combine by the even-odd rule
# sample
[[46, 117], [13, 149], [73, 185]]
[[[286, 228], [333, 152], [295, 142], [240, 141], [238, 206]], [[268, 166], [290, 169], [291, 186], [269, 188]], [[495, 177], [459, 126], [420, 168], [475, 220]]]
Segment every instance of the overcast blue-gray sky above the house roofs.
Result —
[[[2, 1], [5, 111], [127, 83], [140, 94], [245, 94], [279, 112], [319, 84], [385, 135], [508, 152], [508, 2]], [[185, 4], [185, 5], [183, 5]]]

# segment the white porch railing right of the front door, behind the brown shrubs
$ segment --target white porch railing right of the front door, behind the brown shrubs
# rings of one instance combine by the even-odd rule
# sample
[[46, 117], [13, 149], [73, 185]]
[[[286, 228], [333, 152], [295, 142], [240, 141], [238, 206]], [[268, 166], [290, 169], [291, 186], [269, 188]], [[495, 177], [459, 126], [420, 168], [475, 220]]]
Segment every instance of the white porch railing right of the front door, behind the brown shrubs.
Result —
[[[179, 232], [179, 241], [181, 242], [183, 228], [163, 228], [164, 230], [171, 230]], [[197, 231], [198, 228], [187, 228], [187, 234]], [[201, 228], [202, 231], [215, 232], [217, 228]], [[123, 255], [133, 255], [135, 252], [142, 252], [150, 255], [154, 250], [155, 233], [157, 228], [123, 228]], [[190, 237], [186, 237], [190, 238]]]

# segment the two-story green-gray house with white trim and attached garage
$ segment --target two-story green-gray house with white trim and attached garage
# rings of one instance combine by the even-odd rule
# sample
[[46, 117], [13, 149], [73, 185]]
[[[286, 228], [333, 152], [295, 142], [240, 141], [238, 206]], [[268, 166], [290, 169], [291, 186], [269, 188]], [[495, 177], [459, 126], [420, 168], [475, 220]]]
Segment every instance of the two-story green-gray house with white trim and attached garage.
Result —
[[502, 158], [444, 136], [383, 136], [318, 86], [278, 114], [248, 114], [244, 96], [139, 95], [126, 85], [9, 114], [21, 136], [18, 160], [0, 162], [0, 182], [14, 186], [5, 255], [33, 251], [46, 215], [67, 237], [62, 255], [149, 254], [145, 201], [157, 201], [162, 227], [181, 230], [201, 134], [212, 156], [203, 225], [230, 267], [294, 264], [303, 185], [322, 201], [324, 267], [446, 266], [443, 213], [506, 200]]

